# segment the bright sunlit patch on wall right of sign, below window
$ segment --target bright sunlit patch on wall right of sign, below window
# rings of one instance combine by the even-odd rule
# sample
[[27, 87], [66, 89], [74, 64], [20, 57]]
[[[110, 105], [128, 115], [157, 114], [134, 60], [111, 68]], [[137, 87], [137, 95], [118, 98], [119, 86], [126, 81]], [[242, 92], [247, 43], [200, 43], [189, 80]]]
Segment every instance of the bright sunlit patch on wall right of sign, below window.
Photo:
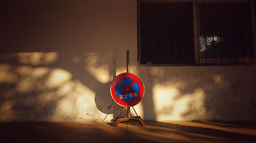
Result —
[[155, 84], [153, 102], [156, 120], [194, 120], [204, 117], [204, 91], [195, 89], [193, 93], [181, 95], [172, 85]]

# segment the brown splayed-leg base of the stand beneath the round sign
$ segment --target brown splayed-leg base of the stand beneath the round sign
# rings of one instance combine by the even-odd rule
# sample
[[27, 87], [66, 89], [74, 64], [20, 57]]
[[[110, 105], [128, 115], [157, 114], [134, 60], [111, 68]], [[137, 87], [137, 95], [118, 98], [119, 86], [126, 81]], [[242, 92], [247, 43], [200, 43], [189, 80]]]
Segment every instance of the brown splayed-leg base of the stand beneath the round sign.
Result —
[[[132, 106], [133, 107], [133, 106]], [[119, 117], [117, 117], [115, 119], [115, 122], [114, 122], [114, 126], [117, 127], [119, 123], [121, 122], [127, 122], [127, 121], [138, 121], [140, 123], [140, 126], [145, 126], [146, 124], [144, 123], [144, 121], [137, 115], [137, 112], [135, 111], [134, 107], [134, 111], [136, 113], [137, 116], [135, 117], [130, 117], [130, 107], [127, 107], [127, 117], [121, 117], [123, 111], [124, 111], [124, 108], [126, 107], [123, 107], [123, 110], [122, 112], [120, 113]]]

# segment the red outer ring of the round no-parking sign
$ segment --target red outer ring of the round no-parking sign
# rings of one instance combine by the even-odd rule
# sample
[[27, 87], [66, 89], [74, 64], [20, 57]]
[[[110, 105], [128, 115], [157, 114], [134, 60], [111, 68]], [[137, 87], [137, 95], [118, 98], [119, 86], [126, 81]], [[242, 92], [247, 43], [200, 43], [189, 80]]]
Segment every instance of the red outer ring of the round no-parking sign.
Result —
[[[116, 92], [115, 92], [115, 87], [116, 87], [117, 82], [125, 77], [129, 77], [129, 78], [132, 78], [133, 80], [135, 80], [138, 83], [139, 89], [140, 89], [140, 92], [139, 92], [137, 98], [131, 102], [124, 102], [124, 101], [120, 100], [117, 97]], [[127, 72], [121, 73], [121, 74], [118, 74], [112, 80], [111, 85], [110, 85], [110, 94], [111, 94], [112, 99], [120, 106], [123, 106], [123, 107], [135, 106], [138, 103], [140, 103], [140, 101], [142, 100], [142, 98], [144, 96], [144, 84], [143, 84], [142, 80], [135, 74], [127, 73]]]

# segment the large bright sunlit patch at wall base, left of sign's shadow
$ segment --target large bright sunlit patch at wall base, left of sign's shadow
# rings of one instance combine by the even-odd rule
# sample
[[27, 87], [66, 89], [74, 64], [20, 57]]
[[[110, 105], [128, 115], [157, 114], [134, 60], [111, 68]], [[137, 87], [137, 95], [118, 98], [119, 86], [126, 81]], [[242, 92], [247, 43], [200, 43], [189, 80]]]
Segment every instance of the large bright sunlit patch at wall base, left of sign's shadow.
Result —
[[79, 80], [74, 80], [63, 86], [72, 90], [58, 99], [57, 108], [51, 117], [52, 120], [93, 121], [97, 115], [101, 114], [94, 102], [95, 93], [86, 85]]

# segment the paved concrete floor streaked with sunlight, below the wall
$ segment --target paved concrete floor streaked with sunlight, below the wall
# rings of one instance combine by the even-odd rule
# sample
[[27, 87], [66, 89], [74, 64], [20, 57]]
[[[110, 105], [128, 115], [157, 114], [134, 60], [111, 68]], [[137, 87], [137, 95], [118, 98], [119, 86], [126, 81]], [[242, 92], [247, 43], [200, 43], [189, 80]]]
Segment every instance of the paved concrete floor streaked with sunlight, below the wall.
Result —
[[255, 122], [0, 123], [0, 142], [256, 142]]

